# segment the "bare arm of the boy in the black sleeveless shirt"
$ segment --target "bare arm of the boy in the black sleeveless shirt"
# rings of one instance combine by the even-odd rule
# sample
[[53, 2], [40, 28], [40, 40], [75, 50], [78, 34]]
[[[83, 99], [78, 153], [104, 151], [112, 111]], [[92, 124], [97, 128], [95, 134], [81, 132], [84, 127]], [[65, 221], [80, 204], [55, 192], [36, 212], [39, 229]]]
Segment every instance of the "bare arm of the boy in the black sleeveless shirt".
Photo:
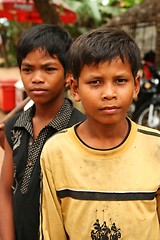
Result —
[[14, 164], [12, 149], [5, 139], [5, 155], [0, 178], [0, 239], [15, 240], [12, 185], [14, 179]]

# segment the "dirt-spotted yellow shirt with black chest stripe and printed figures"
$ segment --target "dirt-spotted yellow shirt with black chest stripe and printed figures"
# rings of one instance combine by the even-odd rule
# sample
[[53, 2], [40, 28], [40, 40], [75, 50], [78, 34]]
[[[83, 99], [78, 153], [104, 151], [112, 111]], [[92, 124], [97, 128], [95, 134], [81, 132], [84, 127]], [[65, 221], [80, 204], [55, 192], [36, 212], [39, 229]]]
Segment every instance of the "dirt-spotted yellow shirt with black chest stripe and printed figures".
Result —
[[[157, 130], [131, 122], [130, 134], [122, 145], [101, 151], [84, 145], [72, 127], [46, 142], [41, 168], [41, 239], [43, 234], [45, 240], [67, 240], [67, 235], [70, 240], [98, 240], [107, 236], [117, 240], [160, 240]], [[80, 198], [82, 192], [94, 196], [124, 193], [126, 198], [130, 193], [157, 195], [150, 200], [58, 198], [57, 194], [64, 189], [73, 190]]]

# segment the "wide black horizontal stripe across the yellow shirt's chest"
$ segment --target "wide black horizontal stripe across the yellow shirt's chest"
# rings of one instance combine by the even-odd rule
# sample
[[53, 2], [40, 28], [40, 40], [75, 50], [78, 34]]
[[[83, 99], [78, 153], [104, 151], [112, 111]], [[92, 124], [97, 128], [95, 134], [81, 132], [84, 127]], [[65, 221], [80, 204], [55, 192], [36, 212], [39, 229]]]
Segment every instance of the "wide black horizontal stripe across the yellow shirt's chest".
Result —
[[57, 191], [59, 198], [71, 197], [79, 200], [114, 200], [114, 201], [128, 201], [128, 200], [153, 200], [155, 192], [87, 192], [87, 191], [75, 191], [71, 189], [63, 189]]

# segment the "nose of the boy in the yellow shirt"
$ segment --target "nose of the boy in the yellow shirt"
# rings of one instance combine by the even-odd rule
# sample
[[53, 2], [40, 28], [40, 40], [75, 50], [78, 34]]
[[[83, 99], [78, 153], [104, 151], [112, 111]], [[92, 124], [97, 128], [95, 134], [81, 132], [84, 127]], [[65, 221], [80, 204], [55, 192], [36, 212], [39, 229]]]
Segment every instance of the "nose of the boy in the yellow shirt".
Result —
[[113, 98], [116, 98], [116, 96], [116, 90], [112, 84], [107, 84], [103, 86], [101, 95], [102, 100], [112, 100]]

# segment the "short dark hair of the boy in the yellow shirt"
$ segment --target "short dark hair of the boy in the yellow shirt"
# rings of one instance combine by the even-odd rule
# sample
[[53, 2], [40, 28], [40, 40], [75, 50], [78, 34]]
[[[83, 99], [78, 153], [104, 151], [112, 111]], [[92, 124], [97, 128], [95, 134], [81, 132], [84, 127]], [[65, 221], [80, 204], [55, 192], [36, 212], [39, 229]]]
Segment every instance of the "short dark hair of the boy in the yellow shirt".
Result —
[[129, 62], [135, 77], [141, 67], [141, 54], [135, 41], [120, 28], [94, 29], [73, 42], [69, 50], [69, 67], [78, 81], [84, 65], [112, 61], [116, 57]]

